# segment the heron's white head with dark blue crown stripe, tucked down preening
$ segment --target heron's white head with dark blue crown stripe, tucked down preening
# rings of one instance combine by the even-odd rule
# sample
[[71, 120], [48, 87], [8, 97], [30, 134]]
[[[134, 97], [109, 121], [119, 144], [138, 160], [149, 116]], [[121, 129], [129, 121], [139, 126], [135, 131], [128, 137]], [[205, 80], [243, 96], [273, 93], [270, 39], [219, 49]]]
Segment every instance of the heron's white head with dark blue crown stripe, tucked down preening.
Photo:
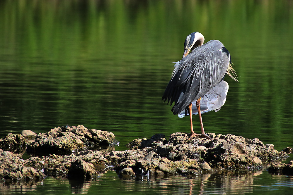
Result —
[[188, 55], [189, 51], [201, 46], [205, 41], [205, 37], [200, 32], [193, 32], [188, 34], [184, 42], [184, 54], [183, 57]]

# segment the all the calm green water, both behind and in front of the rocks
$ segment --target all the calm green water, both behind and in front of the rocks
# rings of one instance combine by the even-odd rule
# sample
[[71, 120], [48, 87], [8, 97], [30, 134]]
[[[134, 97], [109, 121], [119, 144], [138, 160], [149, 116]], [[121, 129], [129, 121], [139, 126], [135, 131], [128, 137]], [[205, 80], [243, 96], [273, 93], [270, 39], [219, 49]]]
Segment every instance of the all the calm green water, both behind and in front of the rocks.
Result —
[[[227, 101], [203, 115], [206, 132], [292, 147], [293, 2], [1, 1], [0, 136], [62, 125], [113, 132], [117, 150], [136, 138], [189, 132], [161, 96], [185, 37], [199, 31], [231, 54]], [[200, 131], [197, 116], [194, 129]], [[267, 171], [97, 181], [46, 178], [2, 194], [290, 194], [292, 177]], [[49, 191], [50, 190], [50, 191]]]

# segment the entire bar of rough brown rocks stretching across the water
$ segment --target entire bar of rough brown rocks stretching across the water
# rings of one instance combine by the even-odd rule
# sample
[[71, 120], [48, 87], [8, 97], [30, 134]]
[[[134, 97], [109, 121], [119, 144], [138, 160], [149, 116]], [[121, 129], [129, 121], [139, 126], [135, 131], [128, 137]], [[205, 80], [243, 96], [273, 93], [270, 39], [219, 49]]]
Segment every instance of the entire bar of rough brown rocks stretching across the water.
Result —
[[[38, 134], [32, 143], [20, 134], [8, 134], [1, 143], [15, 143], [11, 147], [15, 153], [15, 148], [26, 147], [32, 157], [23, 160], [20, 154], [8, 151], [8, 144], [2, 144], [0, 178], [4, 182], [37, 181], [46, 176], [95, 180], [99, 173], [109, 169], [123, 179], [196, 177], [223, 170], [262, 170], [267, 166], [278, 174], [292, 173], [293, 161], [288, 165], [279, 163], [287, 158], [287, 153], [278, 152], [272, 144], [231, 134], [208, 135], [212, 139], [190, 138], [189, 134], [178, 132], [167, 140], [165, 135], [156, 134], [150, 139], [130, 142], [127, 144], [130, 150], [114, 151], [119, 142], [113, 133], [89, 130], [82, 125], [54, 128]], [[93, 146], [108, 148], [97, 151]]]

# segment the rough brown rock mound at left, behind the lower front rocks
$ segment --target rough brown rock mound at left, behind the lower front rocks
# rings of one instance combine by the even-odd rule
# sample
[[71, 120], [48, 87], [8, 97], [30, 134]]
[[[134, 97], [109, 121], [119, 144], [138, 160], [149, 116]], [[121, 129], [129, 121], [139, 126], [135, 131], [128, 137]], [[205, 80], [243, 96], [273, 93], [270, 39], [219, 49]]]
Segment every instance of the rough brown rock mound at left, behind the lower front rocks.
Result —
[[41, 133], [28, 145], [28, 154], [71, 154], [84, 151], [88, 147], [109, 145], [115, 142], [111, 132], [87, 129], [79, 125], [56, 127], [49, 132]]

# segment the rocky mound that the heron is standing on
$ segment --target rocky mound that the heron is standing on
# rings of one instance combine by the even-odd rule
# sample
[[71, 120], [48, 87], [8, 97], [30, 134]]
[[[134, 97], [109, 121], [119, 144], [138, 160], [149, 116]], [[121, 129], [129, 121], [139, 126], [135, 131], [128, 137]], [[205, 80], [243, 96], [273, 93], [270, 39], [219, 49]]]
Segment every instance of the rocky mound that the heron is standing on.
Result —
[[165, 136], [157, 134], [150, 139], [134, 140], [128, 144], [131, 150], [113, 151], [105, 158], [115, 165], [115, 170], [123, 177], [126, 177], [125, 173], [122, 174], [125, 168], [131, 168], [136, 175], [192, 176], [222, 169], [259, 170], [287, 158], [286, 153], [278, 152], [272, 144], [264, 145], [257, 138], [208, 135], [212, 139], [190, 139], [188, 134], [178, 132], [171, 134], [167, 142]]

